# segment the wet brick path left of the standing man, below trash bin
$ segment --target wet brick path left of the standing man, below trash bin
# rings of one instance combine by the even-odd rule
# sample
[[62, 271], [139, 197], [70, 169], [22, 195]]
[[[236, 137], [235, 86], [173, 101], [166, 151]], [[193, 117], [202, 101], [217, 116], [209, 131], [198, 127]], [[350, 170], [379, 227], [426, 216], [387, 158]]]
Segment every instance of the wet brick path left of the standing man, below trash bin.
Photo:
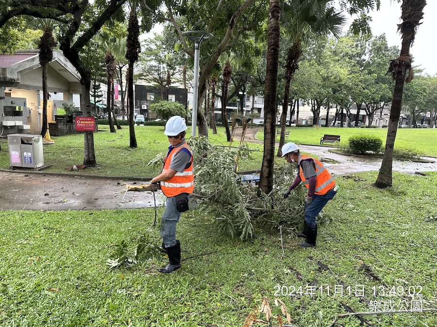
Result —
[[[122, 181], [44, 172], [0, 171], [0, 210], [138, 209], [154, 206], [151, 192], [125, 192]], [[156, 192], [156, 203], [163, 196]]]

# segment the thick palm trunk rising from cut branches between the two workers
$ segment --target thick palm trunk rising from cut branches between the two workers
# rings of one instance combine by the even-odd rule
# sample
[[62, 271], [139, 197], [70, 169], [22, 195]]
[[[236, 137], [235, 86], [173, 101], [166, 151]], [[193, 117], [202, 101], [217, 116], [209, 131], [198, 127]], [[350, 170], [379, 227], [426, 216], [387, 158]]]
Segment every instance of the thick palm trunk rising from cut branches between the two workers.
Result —
[[259, 188], [269, 194], [273, 188], [273, 163], [275, 151], [276, 91], [281, 7], [279, 0], [270, 0], [267, 49], [266, 84], [264, 89], [264, 153]]

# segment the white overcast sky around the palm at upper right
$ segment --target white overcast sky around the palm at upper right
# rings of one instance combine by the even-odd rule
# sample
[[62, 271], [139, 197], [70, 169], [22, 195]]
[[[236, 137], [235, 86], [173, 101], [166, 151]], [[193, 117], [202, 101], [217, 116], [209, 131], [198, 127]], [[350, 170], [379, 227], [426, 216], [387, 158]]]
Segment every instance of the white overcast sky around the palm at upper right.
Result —
[[[426, 2], [422, 24], [419, 26], [410, 53], [413, 56], [414, 66], [420, 65], [420, 68], [424, 69], [424, 73], [436, 75], [437, 1], [428, 0]], [[382, 0], [381, 9], [371, 13], [371, 16], [373, 18], [371, 22], [373, 35], [386, 33], [388, 45], [401, 48], [401, 35], [397, 33], [397, 24], [401, 22], [401, 4], [397, 1]]]

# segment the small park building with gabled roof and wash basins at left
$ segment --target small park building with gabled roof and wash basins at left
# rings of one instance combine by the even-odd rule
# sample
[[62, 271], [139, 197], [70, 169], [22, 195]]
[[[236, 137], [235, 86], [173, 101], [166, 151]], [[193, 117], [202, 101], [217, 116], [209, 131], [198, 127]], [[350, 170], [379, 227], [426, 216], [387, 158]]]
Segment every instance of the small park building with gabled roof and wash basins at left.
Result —
[[[81, 93], [80, 76], [60, 52], [53, 51], [48, 69], [48, 121], [57, 108]], [[42, 124], [42, 68], [38, 50], [0, 54], [0, 123], [3, 135], [40, 132]]]

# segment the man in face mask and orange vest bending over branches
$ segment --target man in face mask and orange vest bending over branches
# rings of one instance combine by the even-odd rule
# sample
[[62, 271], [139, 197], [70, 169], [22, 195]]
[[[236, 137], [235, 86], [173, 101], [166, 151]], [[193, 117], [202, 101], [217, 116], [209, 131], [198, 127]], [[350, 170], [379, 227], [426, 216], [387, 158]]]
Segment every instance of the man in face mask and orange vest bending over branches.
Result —
[[308, 188], [308, 194], [305, 198], [303, 232], [297, 234], [299, 237], [305, 237], [305, 240], [299, 245], [302, 248], [316, 246], [317, 239], [317, 222], [316, 217], [329, 200], [334, 198], [337, 193], [337, 185], [331, 174], [326, 170], [323, 164], [311, 156], [302, 155], [296, 144], [288, 142], [282, 147], [282, 156], [286, 157], [289, 163], [298, 164], [299, 174], [296, 176], [293, 184], [284, 193], [284, 199], [288, 197], [291, 190], [297, 187], [301, 182]]

